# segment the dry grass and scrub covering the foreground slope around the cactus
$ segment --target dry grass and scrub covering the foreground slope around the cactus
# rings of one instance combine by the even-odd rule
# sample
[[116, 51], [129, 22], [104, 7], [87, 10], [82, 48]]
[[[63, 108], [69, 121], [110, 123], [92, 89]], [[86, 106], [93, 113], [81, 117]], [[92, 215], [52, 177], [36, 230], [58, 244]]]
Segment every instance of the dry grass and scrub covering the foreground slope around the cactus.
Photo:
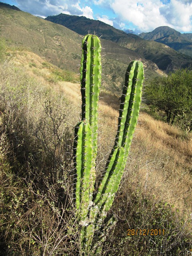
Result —
[[[0, 255], [80, 255], [72, 200], [73, 128], [80, 85], [31, 52], [0, 64]], [[74, 74], [72, 81], [76, 78]], [[52, 79], [50, 79], [50, 77]], [[118, 97], [102, 92], [97, 172], [116, 135]], [[192, 251], [192, 137], [142, 112], [111, 213], [103, 255]], [[127, 236], [128, 229], [165, 235]]]

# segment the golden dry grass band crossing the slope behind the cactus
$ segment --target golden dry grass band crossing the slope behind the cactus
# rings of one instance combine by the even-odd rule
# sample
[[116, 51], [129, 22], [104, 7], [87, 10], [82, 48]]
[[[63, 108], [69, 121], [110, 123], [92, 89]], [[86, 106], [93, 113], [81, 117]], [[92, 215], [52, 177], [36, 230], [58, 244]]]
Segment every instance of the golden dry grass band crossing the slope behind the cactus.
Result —
[[[33, 69], [28, 68], [30, 76], [38, 78], [47, 86], [54, 86], [58, 94], [64, 93], [76, 112], [76, 122], [78, 122], [81, 112], [78, 76], [75, 84], [61, 81], [48, 84], [45, 78], [50, 76], [50, 69], [42, 68], [42, 58], [32, 52], [18, 54], [17, 58], [19, 65], [26, 65], [28, 62], [36, 65], [40, 73], [34, 73]], [[108, 150], [109, 154], [116, 135], [120, 95], [101, 89], [101, 96], [98, 120], [99, 148]], [[190, 218], [192, 213], [191, 134], [186, 136], [179, 128], [154, 120], [142, 112], [142, 108], [136, 129], [124, 177], [131, 180], [133, 187], [140, 182], [146, 196], [155, 196], [174, 204], [181, 212], [187, 209], [188, 218]]]

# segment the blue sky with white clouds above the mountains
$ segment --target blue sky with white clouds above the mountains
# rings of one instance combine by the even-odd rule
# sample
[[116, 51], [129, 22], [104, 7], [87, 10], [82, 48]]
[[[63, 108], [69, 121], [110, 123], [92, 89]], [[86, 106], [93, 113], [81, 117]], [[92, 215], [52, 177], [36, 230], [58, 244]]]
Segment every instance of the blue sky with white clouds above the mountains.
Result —
[[115, 28], [150, 32], [169, 26], [192, 33], [192, 0], [1, 0], [46, 18], [60, 13], [101, 20]]

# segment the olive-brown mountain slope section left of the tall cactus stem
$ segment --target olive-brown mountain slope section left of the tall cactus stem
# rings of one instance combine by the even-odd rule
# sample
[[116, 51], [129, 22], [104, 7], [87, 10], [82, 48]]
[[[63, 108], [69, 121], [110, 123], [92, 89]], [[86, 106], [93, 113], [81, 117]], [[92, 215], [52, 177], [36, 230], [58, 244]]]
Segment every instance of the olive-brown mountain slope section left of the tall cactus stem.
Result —
[[76, 70], [80, 37], [68, 28], [0, 6], [0, 37], [10, 45], [29, 48], [52, 64]]

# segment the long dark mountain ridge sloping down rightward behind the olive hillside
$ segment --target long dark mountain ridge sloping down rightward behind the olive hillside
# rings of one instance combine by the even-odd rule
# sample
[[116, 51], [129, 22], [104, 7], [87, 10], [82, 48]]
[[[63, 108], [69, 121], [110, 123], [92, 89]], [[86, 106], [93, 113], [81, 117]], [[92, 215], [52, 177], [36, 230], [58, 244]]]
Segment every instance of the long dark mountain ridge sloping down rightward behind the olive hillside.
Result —
[[154, 62], [159, 69], [167, 73], [178, 68], [191, 66], [192, 64], [192, 57], [181, 54], [165, 44], [144, 40], [134, 34], [126, 34], [124, 31], [118, 30], [99, 20], [67, 14], [48, 16], [46, 20], [63, 25], [82, 35], [88, 32], [95, 32], [106, 40], [136, 52], [141, 58]]

